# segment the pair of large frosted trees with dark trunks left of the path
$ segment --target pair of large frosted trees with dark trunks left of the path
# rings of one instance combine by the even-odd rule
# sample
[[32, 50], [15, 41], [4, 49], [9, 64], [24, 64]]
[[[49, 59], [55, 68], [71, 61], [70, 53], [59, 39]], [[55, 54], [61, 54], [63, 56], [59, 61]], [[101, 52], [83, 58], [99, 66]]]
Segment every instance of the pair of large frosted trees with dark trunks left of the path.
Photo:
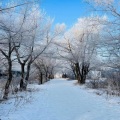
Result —
[[52, 20], [33, 2], [20, 7], [12, 6], [14, 7], [0, 13], [0, 52], [2, 59], [6, 61], [8, 74], [3, 96], [5, 99], [13, 78], [14, 62], [21, 67], [20, 89], [26, 89], [31, 65], [63, 30], [60, 24], [52, 29]]

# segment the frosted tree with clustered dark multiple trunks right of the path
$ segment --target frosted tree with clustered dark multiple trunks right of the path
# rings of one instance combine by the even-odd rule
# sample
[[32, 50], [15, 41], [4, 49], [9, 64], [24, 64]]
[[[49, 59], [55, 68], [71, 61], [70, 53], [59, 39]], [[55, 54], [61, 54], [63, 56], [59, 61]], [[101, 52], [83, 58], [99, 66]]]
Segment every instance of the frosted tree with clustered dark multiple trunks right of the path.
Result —
[[65, 33], [64, 40], [59, 44], [60, 56], [68, 61], [80, 84], [85, 83], [92, 58], [96, 53], [102, 20], [104, 17], [78, 19], [77, 23]]

